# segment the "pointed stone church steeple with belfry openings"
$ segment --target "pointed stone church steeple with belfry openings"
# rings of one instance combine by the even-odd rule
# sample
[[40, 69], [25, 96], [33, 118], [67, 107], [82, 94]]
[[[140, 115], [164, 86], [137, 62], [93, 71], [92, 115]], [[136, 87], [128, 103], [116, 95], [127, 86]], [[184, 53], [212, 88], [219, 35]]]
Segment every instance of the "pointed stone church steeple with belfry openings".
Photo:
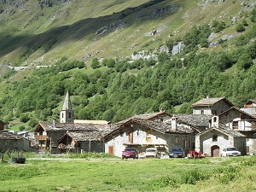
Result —
[[61, 109], [60, 121], [61, 123], [73, 123], [74, 121], [74, 113], [68, 91], [65, 97], [63, 107]]

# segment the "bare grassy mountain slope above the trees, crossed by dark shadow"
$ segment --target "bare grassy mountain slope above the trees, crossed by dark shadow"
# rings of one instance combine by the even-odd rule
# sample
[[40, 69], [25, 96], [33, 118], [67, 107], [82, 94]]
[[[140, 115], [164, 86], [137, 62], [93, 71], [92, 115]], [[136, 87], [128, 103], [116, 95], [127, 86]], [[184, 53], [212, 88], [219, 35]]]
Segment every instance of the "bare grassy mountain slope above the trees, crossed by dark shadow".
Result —
[[[16, 66], [48, 65], [62, 56], [125, 58], [147, 45], [160, 46], [170, 35], [183, 35], [193, 25], [230, 22], [242, 7], [241, 1], [76, 0], [51, 1], [50, 7], [36, 0], [14, 2], [2, 3], [0, 62]], [[146, 35], [158, 29], [162, 32]]]

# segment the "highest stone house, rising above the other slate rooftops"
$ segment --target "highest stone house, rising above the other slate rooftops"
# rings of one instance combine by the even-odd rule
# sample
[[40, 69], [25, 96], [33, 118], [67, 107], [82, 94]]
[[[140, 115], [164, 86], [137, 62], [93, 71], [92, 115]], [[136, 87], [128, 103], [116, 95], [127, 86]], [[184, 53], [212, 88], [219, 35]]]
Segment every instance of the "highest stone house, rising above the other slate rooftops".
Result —
[[225, 97], [202, 99], [192, 104], [193, 114], [218, 115], [234, 105]]

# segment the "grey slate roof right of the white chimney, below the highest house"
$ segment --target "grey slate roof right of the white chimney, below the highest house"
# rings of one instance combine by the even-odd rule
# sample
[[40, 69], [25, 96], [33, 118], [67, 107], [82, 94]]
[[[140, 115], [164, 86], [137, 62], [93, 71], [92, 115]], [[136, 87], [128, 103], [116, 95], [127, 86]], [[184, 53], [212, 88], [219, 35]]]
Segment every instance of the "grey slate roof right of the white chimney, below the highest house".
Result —
[[211, 115], [207, 114], [177, 114], [177, 123], [192, 127], [209, 127]]

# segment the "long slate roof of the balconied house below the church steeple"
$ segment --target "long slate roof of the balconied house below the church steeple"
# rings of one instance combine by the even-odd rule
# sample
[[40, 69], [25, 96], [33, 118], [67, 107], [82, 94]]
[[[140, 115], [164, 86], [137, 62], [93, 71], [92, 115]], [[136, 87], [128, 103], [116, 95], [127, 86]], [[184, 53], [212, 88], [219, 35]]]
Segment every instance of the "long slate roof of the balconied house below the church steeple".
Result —
[[109, 131], [111, 125], [106, 124], [57, 124], [56, 127], [49, 122], [39, 122], [35, 131], [43, 127], [44, 131]]

